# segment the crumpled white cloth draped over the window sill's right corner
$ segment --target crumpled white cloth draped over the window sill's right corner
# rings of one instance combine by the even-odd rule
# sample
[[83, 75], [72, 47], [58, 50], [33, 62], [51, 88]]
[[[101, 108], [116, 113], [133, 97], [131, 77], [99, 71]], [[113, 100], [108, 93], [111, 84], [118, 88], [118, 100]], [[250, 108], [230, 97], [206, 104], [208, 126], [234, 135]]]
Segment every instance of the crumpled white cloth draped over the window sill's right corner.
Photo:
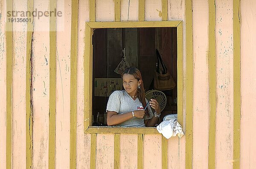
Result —
[[182, 127], [180, 126], [179, 122], [177, 121], [177, 118], [172, 118], [170, 120], [165, 120], [162, 121], [158, 126], [157, 126], [157, 131], [159, 133], [162, 133], [162, 135], [169, 139], [172, 136], [178, 136], [181, 138], [184, 133], [182, 131]]

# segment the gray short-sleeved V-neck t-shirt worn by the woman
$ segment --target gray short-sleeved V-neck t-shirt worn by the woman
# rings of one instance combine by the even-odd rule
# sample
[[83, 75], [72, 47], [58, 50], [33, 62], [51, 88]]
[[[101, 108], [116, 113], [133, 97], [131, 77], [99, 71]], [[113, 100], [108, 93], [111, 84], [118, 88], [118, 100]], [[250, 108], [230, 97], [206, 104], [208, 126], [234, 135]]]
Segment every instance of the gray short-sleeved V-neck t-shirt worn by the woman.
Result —
[[[148, 102], [147, 99], [146, 103]], [[107, 111], [114, 111], [118, 114], [128, 113], [134, 110], [138, 110], [143, 107], [138, 98], [135, 100], [125, 90], [114, 91], [108, 99]], [[116, 126], [124, 127], [145, 127], [144, 120], [151, 119], [153, 117], [152, 110], [148, 104], [149, 116], [145, 115], [144, 119], [133, 117], [127, 121], [124, 121]]]

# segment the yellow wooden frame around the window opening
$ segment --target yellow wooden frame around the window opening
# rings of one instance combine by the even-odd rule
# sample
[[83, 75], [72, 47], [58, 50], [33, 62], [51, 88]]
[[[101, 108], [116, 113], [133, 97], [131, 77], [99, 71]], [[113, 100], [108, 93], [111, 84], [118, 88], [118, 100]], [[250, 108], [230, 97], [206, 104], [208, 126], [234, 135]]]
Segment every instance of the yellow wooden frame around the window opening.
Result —
[[183, 31], [182, 21], [87, 22], [84, 49], [84, 133], [159, 134], [155, 127], [96, 127], [92, 124], [93, 30], [97, 28], [177, 27], [177, 114], [183, 126]]

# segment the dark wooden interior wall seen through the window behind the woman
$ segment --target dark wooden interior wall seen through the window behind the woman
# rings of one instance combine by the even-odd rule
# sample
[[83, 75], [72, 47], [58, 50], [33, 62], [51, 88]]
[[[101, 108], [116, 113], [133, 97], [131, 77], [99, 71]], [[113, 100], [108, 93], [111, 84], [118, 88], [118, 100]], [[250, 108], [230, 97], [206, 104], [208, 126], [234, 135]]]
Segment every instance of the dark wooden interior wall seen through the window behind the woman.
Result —
[[[131, 37], [131, 34], [137, 37]], [[177, 84], [177, 28], [102, 28], [93, 32], [93, 86], [95, 78], [121, 77], [114, 70], [122, 59], [124, 47], [128, 51], [126, 57], [129, 57], [131, 65], [137, 65], [142, 73], [145, 90], [153, 89], [151, 82], [154, 78], [156, 48]], [[134, 54], [134, 51], [138, 54]], [[161, 119], [166, 114], [177, 113], [177, 87], [163, 92], [166, 94], [167, 104]], [[97, 113], [105, 112], [108, 97], [94, 96], [94, 88], [92, 97], [96, 121]]]

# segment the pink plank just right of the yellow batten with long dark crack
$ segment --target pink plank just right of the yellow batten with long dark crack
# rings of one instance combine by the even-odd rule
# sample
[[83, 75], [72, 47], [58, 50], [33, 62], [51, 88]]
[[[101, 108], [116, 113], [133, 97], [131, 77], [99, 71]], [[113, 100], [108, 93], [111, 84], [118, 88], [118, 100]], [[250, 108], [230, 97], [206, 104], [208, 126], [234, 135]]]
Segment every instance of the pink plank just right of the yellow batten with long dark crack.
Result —
[[[38, 11], [48, 11], [48, 0], [34, 0]], [[42, 26], [44, 25], [44, 26]], [[31, 103], [33, 112], [33, 167], [49, 166], [49, 17], [34, 17]]]

